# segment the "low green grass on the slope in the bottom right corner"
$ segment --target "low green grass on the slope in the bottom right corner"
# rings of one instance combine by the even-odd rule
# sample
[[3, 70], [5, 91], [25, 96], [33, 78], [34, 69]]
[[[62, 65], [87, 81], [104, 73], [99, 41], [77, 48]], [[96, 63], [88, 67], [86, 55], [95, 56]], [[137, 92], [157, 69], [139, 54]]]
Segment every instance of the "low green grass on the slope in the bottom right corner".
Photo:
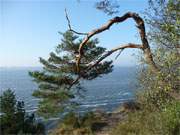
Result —
[[112, 130], [112, 135], [179, 135], [180, 102], [171, 102], [162, 111], [154, 108], [130, 112], [127, 120]]

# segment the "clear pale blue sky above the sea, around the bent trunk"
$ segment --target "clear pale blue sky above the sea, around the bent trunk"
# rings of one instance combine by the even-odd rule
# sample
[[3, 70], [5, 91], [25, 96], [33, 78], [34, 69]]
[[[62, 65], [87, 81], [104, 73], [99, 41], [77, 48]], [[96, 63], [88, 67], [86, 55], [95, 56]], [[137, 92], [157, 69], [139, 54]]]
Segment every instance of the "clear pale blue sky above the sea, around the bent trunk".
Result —
[[[147, 0], [119, 1], [118, 16], [128, 11], [143, 16], [142, 12], [147, 8]], [[41, 66], [39, 57], [47, 59], [61, 42], [58, 32], [68, 29], [65, 8], [73, 29], [80, 32], [98, 28], [113, 17], [98, 11], [94, 3], [95, 0], [0, 0], [0, 67]], [[132, 19], [115, 24], [95, 37], [99, 38], [99, 45], [107, 49], [125, 43], [140, 43]], [[138, 63], [136, 54], [136, 50], [127, 49], [117, 60], [115, 54], [108, 59], [115, 65], [133, 66]]]

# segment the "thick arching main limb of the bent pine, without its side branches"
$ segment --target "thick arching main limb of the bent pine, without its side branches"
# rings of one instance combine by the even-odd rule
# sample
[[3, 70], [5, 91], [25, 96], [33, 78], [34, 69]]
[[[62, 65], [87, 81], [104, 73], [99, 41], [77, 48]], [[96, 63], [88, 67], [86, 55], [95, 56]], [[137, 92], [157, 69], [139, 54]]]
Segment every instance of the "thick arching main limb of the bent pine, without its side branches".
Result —
[[115, 17], [115, 18], [109, 20], [106, 24], [104, 24], [100, 28], [94, 29], [88, 33], [88, 35], [84, 38], [84, 40], [82, 41], [82, 43], [79, 46], [79, 56], [76, 61], [76, 66], [77, 66], [78, 72], [80, 72], [80, 61], [81, 61], [81, 58], [83, 55], [83, 47], [86, 45], [86, 43], [89, 41], [89, 39], [96, 34], [99, 34], [105, 30], [108, 30], [114, 23], [120, 23], [129, 18], [132, 18], [136, 22], [137, 28], [139, 29], [139, 34], [140, 34], [141, 42], [142, 42], [142, 50], [144, 52], [146, 62], [152, 67], [152, 69], [154, 71], [159, 71], [159, 69], [157, 68], [157, 66], [153, 60], [150, 46], [149, 46], [148, 40], [146, 38], [146, 31], [145, 31], [143, 19], [136, 13], [128, 12], [121, 17]]

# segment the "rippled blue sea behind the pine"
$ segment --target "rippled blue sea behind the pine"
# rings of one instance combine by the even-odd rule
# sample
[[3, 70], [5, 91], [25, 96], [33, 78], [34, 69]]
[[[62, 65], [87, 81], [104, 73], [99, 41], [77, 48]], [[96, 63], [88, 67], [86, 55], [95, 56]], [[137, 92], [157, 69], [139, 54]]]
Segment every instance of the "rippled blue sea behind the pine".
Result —
[[[37, 109], [38, 99], [31, 96], [37, 88], [29, 77], [28, 71], [40, 68], [0, 68], [0, 94], [8, 88], [15, 91], [18, 100], [25, 101], [28, 111]], [[78, 99], [80, 111], [102, 108], [112, 111], [126, 100], [133, 99], [136, 90], [136, 72], [134, 67], [116, 67], [114, 71], [93, 81], [83, 82], [85, 97]]]

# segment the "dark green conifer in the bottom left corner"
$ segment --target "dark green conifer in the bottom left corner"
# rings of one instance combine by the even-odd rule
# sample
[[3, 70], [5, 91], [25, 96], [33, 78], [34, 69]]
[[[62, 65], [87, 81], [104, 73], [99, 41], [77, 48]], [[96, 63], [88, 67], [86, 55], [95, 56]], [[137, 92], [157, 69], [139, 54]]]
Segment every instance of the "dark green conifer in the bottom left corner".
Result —
[[44, 125], [36, 122], [34, 114], [27, 114], [24, 102], [17, 101], [10, 89], [0, 96], [1, 134], [44, 134]]

